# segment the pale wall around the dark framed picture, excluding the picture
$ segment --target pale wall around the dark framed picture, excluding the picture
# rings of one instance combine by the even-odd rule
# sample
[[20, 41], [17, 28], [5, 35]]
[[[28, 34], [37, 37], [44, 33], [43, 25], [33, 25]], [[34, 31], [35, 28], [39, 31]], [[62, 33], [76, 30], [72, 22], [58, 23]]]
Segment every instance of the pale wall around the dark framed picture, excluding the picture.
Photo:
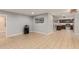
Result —
[[[44, 23], [35, 23], [35, 18], [44, 17]], [[33, 31], [40, 32], [40, 33], [49, 33], [53, 31], [51, 15], [49, 14], [42, 14], [35, 16], [33, 18]]]

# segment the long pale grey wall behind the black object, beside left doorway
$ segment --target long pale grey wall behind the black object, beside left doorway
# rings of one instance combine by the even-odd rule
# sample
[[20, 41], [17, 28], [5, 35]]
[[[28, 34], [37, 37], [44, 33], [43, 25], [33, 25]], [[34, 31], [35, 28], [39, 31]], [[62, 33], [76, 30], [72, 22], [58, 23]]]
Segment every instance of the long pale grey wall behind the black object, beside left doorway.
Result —
[[12, 14], [0, 11], [0, 14], [7, 16], [7, 35], [12, 36], [15, 34], [23, 33], [24, 25], [29, 25], [32, 31], [32, 18], [29, 16], [22, 16], [19, 14]]

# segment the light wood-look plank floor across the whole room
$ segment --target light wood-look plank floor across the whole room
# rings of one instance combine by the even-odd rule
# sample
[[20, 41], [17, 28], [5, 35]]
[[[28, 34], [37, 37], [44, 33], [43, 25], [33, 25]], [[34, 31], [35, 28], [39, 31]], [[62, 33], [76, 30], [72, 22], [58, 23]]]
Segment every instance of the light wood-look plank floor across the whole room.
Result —
[[30, 33], [7, 38], [0, 44], [0, 48], [28, 48], [28, 49], [76, 49], [79, 48], [79, 36], [72, 31], [58, 31], [49, 35]]

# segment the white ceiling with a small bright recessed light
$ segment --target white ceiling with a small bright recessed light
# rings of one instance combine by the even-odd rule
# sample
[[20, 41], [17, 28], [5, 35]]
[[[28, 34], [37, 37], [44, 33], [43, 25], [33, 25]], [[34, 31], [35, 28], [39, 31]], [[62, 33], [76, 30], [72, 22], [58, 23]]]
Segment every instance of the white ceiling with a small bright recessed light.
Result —
[[[3, 9], [3, 11], [18, 13], [28, 16], [35, 16], [44, 13], [53, 13], [53, 14], [63, 13], [63, 12], [67, 12], [67, 9]], [[34, 14], [32, 14], [32, 12], [34, 12]]]

